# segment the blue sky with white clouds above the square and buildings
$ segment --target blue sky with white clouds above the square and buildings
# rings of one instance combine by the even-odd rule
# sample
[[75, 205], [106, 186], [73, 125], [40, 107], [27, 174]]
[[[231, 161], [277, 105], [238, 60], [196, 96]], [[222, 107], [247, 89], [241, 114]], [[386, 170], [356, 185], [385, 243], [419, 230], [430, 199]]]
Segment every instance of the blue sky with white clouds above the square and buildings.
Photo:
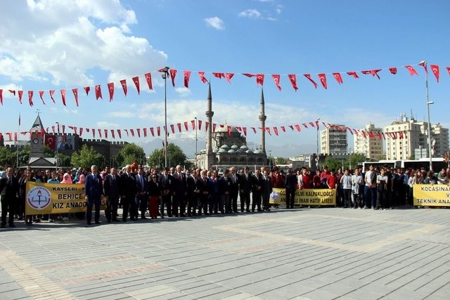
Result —
[[[428, 78], [430, 100], [435, 103], [430, 106], [431, 121], [450, 127], [449, 15], [446, 0], [2, 1], [0, 132], [18, 131], [19, 114], [20, 131], [30, 129], [38, 110], [44, 126], [56, 122], [108, 130], [163, 126], [165, 89], [158, 70], [167, 65], [177, 70], [175, 87], [167, 81], [167, 124], [206, 119], [207, 84], [198, 76], [205, 72], [212, 86], [213, 122], [246, 126], [248, 140], [258, 141], [259, 134], [250, 127], [259, 127], [262, 86], [243, 73], [264, 74], [266, 126], [272, 129], [266, 137], [268, 150], [271, 145], [294, 144], [314, 152], [316, 130], [310, 126], [302, 126], [300, 133], [280, 131], [278, 136], [273, 128], [320, 118], [326, 124], [360, 129], [368, 122], [390, 124], [402, 112], [425, 119], [425, 72], [418, 65], [422, 60], [439, 65], [439, 83], [432, 72]], [[418, 75], [411, 76], [406, 65]], [[397, 74], [391, 74], [390, 67], [397, 67]], [[361, 74], [378, 69], [380, 79]], [[185, 70], [191, 71], [188, 89]], [[359, 79], [347, 74], [351, 71]], [[144, 77], [148, 72], [152, 91]], [[229, 83], [212, 72], [234, 76]], [[342, 84], [333, 78], [337, 72]], [[319, 79], [322, 73], [327, 89]], [[281, 91], [272, 74], [280, 74]], [[297, 91], [288, 74], [296, 74]], [[304, 74], [311, 74], [316, 89]], [[131, 80], [136, 76], [140, 95]], [[126, 97], [122, 79], [127, 79]], [[110, 82], [115, 84], [111, 102]], [[103, 99], [96, 100], [98, 84]], [[91, 87], [89, 96], [84, 86]], [[67, 90], [66, 105], [61, 89]], [[79, 89], [79, 106], [72, 89]], [[23, 104], [8, 90], [24, 91]], [[56, 103], [50, 90], [55, 90]], [[33, 106], [28, 91], [34, 91]], [[44, 101], [39, 91], [44, 91]], [[169, 141], [193, 134], [191, 128], [188, 133], [183, 130], [170, 134]], [[90, 133], [83, 137], [92, 138]], [[136, 143], [155, 139], [122, 138]]]

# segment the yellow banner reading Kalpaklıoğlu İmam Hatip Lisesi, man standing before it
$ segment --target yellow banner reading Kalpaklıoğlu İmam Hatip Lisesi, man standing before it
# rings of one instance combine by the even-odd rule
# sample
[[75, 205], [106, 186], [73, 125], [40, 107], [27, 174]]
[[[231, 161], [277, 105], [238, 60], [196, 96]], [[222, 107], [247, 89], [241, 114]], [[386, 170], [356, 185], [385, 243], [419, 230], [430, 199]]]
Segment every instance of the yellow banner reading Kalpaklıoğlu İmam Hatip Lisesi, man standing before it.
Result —
[[[270, 204], [285, 204], [284, 188], [274, 188], [270, 194]], [[336, 205], [336, 190], [326, 188], [309, 188], [295, 191], [295, 204], [298, 205]]]

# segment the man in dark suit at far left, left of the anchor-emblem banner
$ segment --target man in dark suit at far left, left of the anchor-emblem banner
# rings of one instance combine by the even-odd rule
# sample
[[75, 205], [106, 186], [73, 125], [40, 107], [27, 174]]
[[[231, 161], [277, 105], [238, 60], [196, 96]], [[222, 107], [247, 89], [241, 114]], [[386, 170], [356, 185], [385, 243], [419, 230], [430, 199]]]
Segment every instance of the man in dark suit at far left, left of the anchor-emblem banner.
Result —
[[19, 183], [15, 178], [13, 168], [6, 169], [6, 176], [0, 179], [0, 197], [1, 197], [1, 228], [6, 226], [6, 214], [8, 216], [9, 227], [14, 225], [14, 207], [17, 201]]

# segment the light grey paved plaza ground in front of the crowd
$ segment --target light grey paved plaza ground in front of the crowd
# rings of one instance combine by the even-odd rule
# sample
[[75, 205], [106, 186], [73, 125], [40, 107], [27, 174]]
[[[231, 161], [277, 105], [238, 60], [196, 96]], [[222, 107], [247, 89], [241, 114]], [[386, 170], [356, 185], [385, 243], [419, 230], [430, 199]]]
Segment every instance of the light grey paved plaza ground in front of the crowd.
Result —
[[16, 225], [0, 299], [450, 299], [450, 209]]

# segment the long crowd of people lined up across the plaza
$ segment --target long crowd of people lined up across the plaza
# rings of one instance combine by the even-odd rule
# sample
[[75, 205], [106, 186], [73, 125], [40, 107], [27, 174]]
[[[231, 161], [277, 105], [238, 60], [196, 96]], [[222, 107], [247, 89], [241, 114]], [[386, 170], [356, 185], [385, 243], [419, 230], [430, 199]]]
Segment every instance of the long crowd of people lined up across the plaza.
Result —
[[[231, 167], [222, 174], [202, 169], [182, 169], [181, 166], [162, 169], [144, 169], [130, 164], [123, 169], [96, 166], [84, 170], [33, 171], [6, 169], [0, 178], [1, 228], [14, 226], [14, 219], [25, 219], [26, 183], [83, 184], [86, 195], [86, 214], [77, 213], [91, 225], [100, 223], [101, 199], [105, 197], [105, 217], [110, 222], [137, 221], [167, 217], [200, 216], [210, 214], [237, 214], [239, 212], [270, 211], [273, 188], [285, 190], [286, 209], [293, 209], [295, 193], [299, 189], [328, 188], [336, 190], [336, 205], [354, 209], [390, 209], [413, 204], [413, 185], [450, 185], [450, 170], [442, 169], [437, 176], [432, 171], [362, 167], [350, 171], [328, 167], [311, 172], [307, 168], [293, 171], [261, 167], [250, 172], [248, 167]], [[238, 207], [238, 197], [240, 207]], [[122, 216], [118, 209], [122, 208]], [[68, 221], [69, 214], [26, 216], [25, 223]]]

